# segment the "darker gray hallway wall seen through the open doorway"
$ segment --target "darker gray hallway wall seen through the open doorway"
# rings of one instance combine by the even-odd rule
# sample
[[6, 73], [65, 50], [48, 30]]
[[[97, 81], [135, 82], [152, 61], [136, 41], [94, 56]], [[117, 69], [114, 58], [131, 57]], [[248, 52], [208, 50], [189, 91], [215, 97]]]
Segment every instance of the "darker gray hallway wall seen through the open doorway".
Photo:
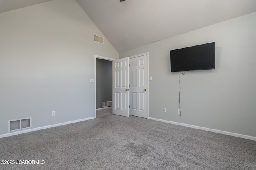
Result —
[[112, 101], [112, 61], [96, 59], [96, 108]]

